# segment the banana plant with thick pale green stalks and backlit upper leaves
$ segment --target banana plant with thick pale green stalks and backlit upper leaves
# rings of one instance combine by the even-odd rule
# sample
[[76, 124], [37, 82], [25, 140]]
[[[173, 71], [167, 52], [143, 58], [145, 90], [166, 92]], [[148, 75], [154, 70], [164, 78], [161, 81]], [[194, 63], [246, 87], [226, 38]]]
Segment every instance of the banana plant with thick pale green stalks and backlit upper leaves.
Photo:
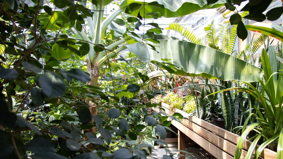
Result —
[[[28, 0], [27, 0], [28, 1]], [[67, 0], [42, 0], [42, 1], [29, 1], [30, 6], [35, 3], [44, 3], [43, 10], [38, 18], [42, 21], [42, 25], [47, 30], [64, 31], [69, 29], [72, 33], [76, 34], [77, 39], [66, 36], [56, 35], [54, 39], [58, 40], [52, 47], [51, 57], [57, 59], [64, 59], [70, 57], [72, 53], [80, 56], [85, 56], [87, 63], [87, 73], [90, 74], [91, 81], [87, 85], [98, 86], [99, 71], [101, 66], [108, 61], [109, 58], [116, 55], [120, 51], [126, 49], [125, 46], [118, 47], [124, 42], [135, 41], [132, 36], [124, 34], [126, 31], [126, 24], [124, 20], [118, 16], [125, 12], [127, 14], [134, 14], [139, 18], [160, 18], [163, 15], [180, 16], [182, 8], [188, 7], [185, 14], [195, 12], [200, 9], [217, 8], [224, 5], [221, 0], [218, 3], [207, 5], [205, 0], [166, 0], [166, 1], [144, 1], [144, 0], [125, 0], [121, 3], [120, 8], [115, 10], [111, 15], [105, 18], [105, 7], [113, 0], [83, 0], [83, 1], [67, 1]], [[178, 3], [177, 3], [178, 2]], [[27, 2], [26, 2], [27, 3]], [[52, 7], [53, 6], [53, 7]], [[53, 9], [51, 9], [53, 8]], [[179, 9], [179, 10], [178, 10]], [[166, 11], [166, 12], [165, 12]], [[138, 14], [135, 14], [138, 13]], [[184, 14], [184, 13], [182, 13]], [[137, 22], [136, 28], [138, 29], [141, 24], [137, 18], [130, 17], [128, 22]], [[150, 23], [156, 28], [150, 29], [146, 32], [148, 35], [154, 33], [161, 33], [161, 28], [155, 23]], [[112, 43], [109, 45], [104, 44], [104, 36], [110, 29]], [[136, 35], [135, 33], [132, 33]], [[148, 41], [151, 38], [148, 38]], [[154, 41], [154, 40], [153, 40]], [[78, 49], [79, 45], [79, 50]], [[48, 59], [48, 57], [46, 58]], [[86, 102], [89, 104], [91, 113], [94, 114], [95, 104], [92, 103], [92, 97], [87, 97]]]

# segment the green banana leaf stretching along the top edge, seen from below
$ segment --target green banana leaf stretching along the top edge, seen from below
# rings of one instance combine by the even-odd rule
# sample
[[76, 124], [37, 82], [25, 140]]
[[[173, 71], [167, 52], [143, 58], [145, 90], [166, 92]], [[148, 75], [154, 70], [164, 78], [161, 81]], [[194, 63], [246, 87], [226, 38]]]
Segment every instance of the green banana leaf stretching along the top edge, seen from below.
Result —
[[[149, 3], [152, 3], [154, 1], [156, 1], [159, 6], [148, 5]], [[160, 13], [160, 16], [165, 16], [166, 18], [179, 17], [191, 14], [198, 10], [224, 6], [226, 0], [219, 0], [211, 5], [208, 5], [206, 0], [126, 0], [121, 3], [120, 8], [124, 8], [132, 3], [144, 4], [144, 2], [144, 9], [135, 10], [130, 14], [132, 16], [137, 16], [139, 13], [139, 15], [142, 16], [146, 15], [145, 18], [153, 18], [149, 13]], [[162, 5], [164, 6], [164, 8], [160, 7]], [[141, 7], [143, 7], [143, 5]]]

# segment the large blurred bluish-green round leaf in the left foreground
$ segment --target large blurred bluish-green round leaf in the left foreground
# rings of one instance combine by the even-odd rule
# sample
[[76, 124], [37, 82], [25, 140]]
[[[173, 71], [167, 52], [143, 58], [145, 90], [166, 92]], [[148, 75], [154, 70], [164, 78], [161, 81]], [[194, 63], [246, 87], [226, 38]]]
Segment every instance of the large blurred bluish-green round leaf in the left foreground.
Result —
[[66, 83], [54, 72], [48, 72], [39, 77], [38, 83], [42, 92], [48, 97], [61, 96], [66, 91]]

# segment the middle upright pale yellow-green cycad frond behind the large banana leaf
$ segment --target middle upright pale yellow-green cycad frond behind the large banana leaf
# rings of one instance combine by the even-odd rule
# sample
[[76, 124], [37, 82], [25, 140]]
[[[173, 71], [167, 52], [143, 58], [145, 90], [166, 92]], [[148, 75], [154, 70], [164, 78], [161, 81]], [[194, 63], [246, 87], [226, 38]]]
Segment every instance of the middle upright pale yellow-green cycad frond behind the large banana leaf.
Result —
[[226, 24], [219, 24], [219, 42], [220, 42], [220, 48], [227, 53], [227, 46], [228, 46], [228, 41], [230, 40], [230, 28], [228, 23]]

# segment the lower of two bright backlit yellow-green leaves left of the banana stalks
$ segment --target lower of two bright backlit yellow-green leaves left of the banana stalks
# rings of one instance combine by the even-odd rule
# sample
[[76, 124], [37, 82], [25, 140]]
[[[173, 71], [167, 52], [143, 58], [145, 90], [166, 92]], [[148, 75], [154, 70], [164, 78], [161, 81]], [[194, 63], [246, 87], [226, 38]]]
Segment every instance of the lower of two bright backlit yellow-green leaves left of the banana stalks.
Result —
[[[59, 41], [64, 41], [64, 40], [59, 40]], [[70, 41], [75, 42], [75, 40], [70, 40]], [[67, 43], [66, 43], [66, 47], [73, 47], [75, 49], [79, 48], [78, 45], [71, 45]], [[55, 43], [52, 46], [51, 53], [52, 53], [52, 57], [54, 57], [55, 59], [66, 59], [72, 55], [73, 51], [68, 48], [65, 50], [65, 48], [62, 47], [62, 44]]]

